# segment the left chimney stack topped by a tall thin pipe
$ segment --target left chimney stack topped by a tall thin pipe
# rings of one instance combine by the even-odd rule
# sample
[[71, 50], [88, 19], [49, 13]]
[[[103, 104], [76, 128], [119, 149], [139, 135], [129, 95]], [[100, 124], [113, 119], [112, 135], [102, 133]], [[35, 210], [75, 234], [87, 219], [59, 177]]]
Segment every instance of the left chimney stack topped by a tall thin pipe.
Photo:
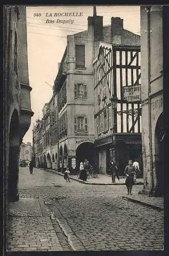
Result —
[[97, 16], [96, 6], [93, 7], [93, 17], [88, 17], [88, 35], [95, 41], [103, 41], [103, 16]]

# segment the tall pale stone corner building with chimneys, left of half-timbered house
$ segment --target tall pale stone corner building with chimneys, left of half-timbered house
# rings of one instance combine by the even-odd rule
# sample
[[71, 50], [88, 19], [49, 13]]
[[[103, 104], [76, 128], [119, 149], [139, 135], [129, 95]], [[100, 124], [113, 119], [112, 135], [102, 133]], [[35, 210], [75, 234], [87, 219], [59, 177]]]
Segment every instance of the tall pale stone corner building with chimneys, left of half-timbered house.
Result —
[[[88, 159], [92, 164], [94, 163], [94, 71], [92, 61], [97, 56], [100, 41], [115, 45], [139, 46], [139, 40], [139, 35], [123, 28], [123, 19], [120, 17], [111, 17], [111, 25], [103, 26], [103, 17], [97, 16], [95, 7], [93, 16], [88, 17], [88, 30], [67, 36], [67, 47], [61, 63], [59, 63], [52, 96], [52, 98], [56, 98], [57, 139], [54, 142], [57, 143], [57, 146], [52, 145], [52, 133], [50, 133], [50, 147], [44, 147], [44, 151], [41, 152], [41, 155], [45, 151], [48, 152], [48, 159], [51, 164], [53, 163], [52, 159], [54, 160], [55, 168], [63, 171], [69, 166], [73, 172], [79, 167], [80, 161]], [[50, 106], [48, 108], [50, 113]], [[54, 151], [53, 148], [55, 148]], [[57, 160], [58, 166], [56, 165]], [[51, 164], [49, 165], [51, 166]]]

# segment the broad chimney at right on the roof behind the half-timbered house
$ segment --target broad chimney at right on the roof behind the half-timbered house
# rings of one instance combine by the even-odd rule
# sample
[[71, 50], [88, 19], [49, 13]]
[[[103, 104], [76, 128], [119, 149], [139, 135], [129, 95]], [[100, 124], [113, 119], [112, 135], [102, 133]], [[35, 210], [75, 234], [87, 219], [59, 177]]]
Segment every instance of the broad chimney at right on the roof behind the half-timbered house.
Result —
[[111, 17], [111, 42], [121, 44], [123, 31], [123, 19], [120, 17]]

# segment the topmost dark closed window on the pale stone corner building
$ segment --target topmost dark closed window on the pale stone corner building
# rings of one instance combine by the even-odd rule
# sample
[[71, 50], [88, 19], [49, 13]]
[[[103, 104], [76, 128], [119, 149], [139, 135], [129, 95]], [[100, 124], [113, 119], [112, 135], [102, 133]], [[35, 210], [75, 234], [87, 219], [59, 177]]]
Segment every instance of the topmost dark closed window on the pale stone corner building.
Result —
[[76, 68], [85, 68], [85, 45], [75, 46]]

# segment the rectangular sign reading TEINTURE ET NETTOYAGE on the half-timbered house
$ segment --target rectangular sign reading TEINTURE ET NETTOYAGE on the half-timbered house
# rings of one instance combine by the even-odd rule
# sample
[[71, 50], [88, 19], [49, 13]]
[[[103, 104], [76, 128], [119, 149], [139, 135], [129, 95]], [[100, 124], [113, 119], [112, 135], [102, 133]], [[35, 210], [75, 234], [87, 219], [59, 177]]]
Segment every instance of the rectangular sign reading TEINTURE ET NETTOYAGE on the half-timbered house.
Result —
[[141, 85], [137, 86], [124, 86], [123, 99], [128, 102], [140, 101]]

